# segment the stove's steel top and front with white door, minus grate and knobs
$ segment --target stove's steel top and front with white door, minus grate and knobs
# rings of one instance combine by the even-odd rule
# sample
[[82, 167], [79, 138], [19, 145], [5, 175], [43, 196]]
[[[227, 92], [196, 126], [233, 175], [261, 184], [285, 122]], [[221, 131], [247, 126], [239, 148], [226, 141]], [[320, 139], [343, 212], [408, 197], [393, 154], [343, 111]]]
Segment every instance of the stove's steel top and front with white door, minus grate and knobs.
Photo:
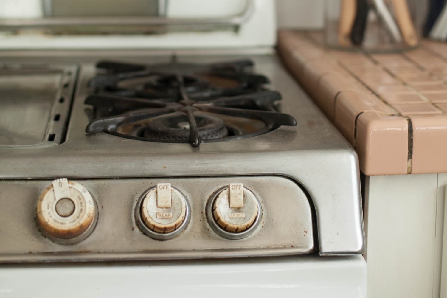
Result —
[[[263, 11], [265, 4], [257, 5]], [[95, 285], [103, 295], [118, 296], [128, 287], [140, 293], [144, 282], [136, 286], [134, 281], [147, 277], [160, 289], [157, 293], [173, 296], [205, 295], [215, 286], [222, 295], [237, 290], [261, 296], [281, 291], [363, 297], [357, 157], [268, 52], [259, 47], [175, 50], [184, 63], [248, 57], [253, 73], [270, 80], [266, 88], [281, 93], [275, 109], [296, 120], [296, 126], [198, 147], [85, 132], [95, 118], [85, 100], [95, 93], [89, 81], [100, 60], [169, 63], [173, 50], [1, 52], [0, 92], [8, 98], [7, 112], [2, 112], [8, 117], [0, 120], [2, 289], [24, 295], [28, 288], [18, 282], [23, 277], [38, 276], [32, 286], [57, 275], [61, 280], [54, 292], [42, 295], [57, 293], [73, 277], [84, 285], [73, 291], [75, 296], [84, 290], [93, 295]], [[42, 235], [36, 223], [39, 195], [63, 177], [83, 185], [97, 207], [91, 234], [70, 245]], [[170, 183], [189, 206], [184, 230], [167, 240], [148, 236], [136, 216], [140, 197], [159, 183]], [[207, 212], [210, 198], [231, 183], [242, 183], [260, 204], [255, 229], [242, 239], [216, 233]], [[259, 258], [247, 259], [252, 256]], [[97, 274], [105, 277], [92, 278]], [[110, 282], [120, 276], [127, 279]]]

